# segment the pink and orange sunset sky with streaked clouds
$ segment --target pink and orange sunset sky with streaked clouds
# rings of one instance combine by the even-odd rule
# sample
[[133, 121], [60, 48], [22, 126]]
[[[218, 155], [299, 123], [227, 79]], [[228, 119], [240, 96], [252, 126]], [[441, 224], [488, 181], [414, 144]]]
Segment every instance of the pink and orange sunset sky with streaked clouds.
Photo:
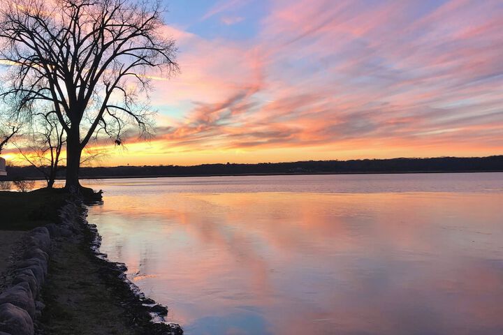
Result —
[[166, 4], [181, 73], [103, 165], [503, 154], [501, 0]]

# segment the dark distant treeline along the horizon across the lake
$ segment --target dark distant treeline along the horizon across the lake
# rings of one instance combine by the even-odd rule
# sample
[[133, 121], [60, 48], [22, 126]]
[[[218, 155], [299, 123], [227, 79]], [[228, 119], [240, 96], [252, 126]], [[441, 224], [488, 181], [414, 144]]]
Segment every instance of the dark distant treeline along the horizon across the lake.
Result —
[[[117, 166], [81, 168], [82, 178], [184, 177], [240, 174], [351, 174], [406, 172], [492, 172], [503, 171], [503, 156], [362, 159], [351, 161], [302, 161], [258, 164], [203, 164], [194, 166]], [[8, 179], [17, 176], [41, 178], [31, 166], [8, 166]], [[59, 177], [64, 177], [64, 170]]]

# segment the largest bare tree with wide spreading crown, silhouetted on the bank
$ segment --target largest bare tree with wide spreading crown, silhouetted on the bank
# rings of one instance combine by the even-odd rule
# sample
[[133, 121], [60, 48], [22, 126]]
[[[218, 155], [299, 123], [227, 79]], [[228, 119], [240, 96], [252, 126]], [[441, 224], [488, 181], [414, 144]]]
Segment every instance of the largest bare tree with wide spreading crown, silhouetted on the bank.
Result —
[[67, 188], [80, 187], [92, 137], [121, 143], [128, 124], [150, 133], [148, 70], [178, 70], [163, 13], [155, 0], [1, 1], [0, 59], [10, 65], [0, 96], [24, 116], [52, 103], [66, 133]]

